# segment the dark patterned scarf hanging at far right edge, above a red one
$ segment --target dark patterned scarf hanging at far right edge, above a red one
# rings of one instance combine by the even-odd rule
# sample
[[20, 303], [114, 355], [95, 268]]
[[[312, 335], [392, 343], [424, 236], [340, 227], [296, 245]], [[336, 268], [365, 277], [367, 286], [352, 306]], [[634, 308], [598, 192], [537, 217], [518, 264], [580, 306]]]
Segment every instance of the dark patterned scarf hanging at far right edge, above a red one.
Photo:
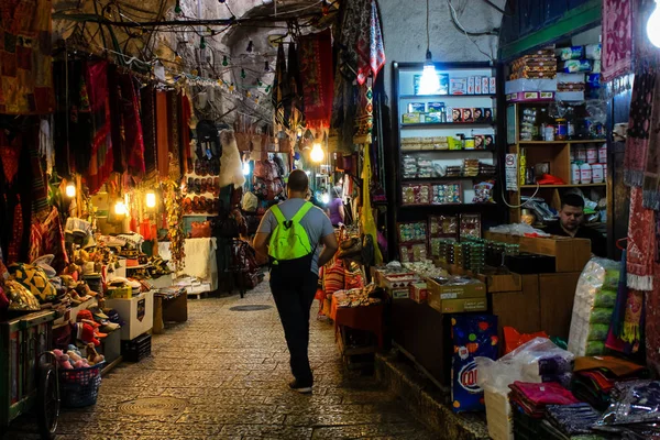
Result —
[[628, 186], [641, 187], [649, 150], [649, 128], [656, 74], [648, 72], [637, 75], [630, 100], [628, 136], [624, 158], [624, 182]]

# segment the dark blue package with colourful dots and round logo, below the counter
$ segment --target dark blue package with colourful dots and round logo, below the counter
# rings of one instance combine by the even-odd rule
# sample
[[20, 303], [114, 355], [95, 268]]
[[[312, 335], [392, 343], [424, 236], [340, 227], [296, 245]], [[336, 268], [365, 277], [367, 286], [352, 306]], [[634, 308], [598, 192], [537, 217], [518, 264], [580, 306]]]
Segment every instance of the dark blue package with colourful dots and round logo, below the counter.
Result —
[[451, 319], [453, 355], [451, 400], [454, 413], [483, 411], [484, 391], [477, 385], [475, 356], [497, 359], [497, 317], [493, 315], [453, 315]]

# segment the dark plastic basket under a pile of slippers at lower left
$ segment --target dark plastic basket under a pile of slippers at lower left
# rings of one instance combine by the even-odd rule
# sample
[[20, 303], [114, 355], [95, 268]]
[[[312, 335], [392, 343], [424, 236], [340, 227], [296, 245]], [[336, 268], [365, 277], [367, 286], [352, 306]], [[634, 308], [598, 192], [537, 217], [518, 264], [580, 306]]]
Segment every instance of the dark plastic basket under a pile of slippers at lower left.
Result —
[[105, 362], [94, 366], [59, 370], [59, 397], [67, 408], [96, 405], [101, 386], [101, 369]]

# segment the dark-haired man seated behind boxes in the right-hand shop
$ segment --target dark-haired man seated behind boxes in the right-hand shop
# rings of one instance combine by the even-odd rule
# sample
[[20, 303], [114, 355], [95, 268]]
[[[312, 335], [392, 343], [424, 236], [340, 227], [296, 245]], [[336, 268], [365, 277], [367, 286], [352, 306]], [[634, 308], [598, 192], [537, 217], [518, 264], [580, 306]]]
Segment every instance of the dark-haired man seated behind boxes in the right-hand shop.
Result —
[[584, 199], [576, 194], [568, 194], [561, 199], [559, 221], [551, 223], [546, 232], [552, 235], [572, 237], [574, 239], [588, 239], [592, 242], [592, 254], [607, 256], [607, 241], [596, 230], [583, 226]]

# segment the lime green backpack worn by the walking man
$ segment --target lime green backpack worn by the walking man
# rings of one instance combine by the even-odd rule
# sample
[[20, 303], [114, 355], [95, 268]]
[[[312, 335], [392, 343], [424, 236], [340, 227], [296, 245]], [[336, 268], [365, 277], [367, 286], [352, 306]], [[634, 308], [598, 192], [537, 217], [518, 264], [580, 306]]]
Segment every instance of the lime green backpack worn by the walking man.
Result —
[[268, 244], [268, 255], [273, 257], [274, 264], [277, 264], [278, 261], [300, 258], [311, 253], [311, 243], [300, 220], [312, 207], [314, 205], [309, 201], [305, 202], [288, 221], [278, 206], [271, 208], [277, 220]]

